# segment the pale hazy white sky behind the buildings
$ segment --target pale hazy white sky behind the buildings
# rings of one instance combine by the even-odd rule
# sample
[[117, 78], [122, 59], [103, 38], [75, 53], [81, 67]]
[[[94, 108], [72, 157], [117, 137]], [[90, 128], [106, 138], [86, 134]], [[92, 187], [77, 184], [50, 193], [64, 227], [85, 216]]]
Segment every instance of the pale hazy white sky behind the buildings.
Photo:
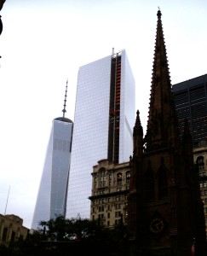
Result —
[[[172, 84], [207, 73], [206, 0], [7, 0], [0, 13], [0, 213], [30, 228], [52, 120], [78, 67], [126, 49], [146, 131], [158, 6]], [[92, 166], [91, 166], [92, 172]]]

